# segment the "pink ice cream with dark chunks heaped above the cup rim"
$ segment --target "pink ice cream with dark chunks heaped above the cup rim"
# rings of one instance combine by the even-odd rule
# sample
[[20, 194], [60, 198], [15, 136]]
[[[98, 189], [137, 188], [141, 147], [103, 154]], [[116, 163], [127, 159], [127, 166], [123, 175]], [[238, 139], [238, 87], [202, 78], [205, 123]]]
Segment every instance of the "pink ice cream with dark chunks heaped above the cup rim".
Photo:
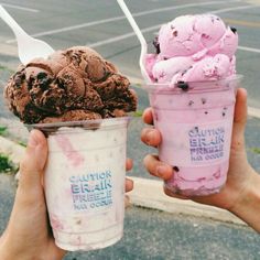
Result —
[[147, 69], [153, 82], [217, 80], [236, 74], [236, 29], [214, 14], [182, 15], [161, 26], [148, 54]]

